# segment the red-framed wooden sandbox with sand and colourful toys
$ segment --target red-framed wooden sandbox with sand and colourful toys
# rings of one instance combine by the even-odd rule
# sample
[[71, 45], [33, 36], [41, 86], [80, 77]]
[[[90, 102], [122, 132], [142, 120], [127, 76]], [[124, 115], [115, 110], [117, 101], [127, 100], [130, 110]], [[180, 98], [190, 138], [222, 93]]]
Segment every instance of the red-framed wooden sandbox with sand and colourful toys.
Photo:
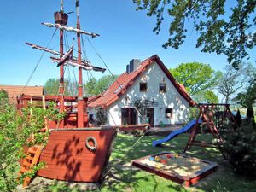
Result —
[[148, 155], [133, 160], [132, 165], [174, 182], [184, 183], [186, 187], [218, 169], [218, 164], [215, 162], [171, 152]]

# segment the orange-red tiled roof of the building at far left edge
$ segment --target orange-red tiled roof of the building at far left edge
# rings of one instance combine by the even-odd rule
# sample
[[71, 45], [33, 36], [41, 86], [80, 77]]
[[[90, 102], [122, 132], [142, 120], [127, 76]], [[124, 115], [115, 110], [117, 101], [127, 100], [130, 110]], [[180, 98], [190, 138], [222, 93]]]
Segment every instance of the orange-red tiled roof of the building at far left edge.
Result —
[[17, 104], [17, 96], [20, 94], [30, 96], [43, 96], [43, 86], [26, 86], [24, 85], [0, 85], [0, 90], [5, 90], [8, 93], [9, 102]]

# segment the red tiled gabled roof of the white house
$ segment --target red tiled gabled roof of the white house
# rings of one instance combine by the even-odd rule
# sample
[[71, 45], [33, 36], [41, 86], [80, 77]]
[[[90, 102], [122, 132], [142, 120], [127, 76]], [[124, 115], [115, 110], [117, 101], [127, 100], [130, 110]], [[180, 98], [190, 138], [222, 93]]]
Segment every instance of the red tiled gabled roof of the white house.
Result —
[[172, 84], [176, 87], [178, 93], [183, 96], [187, 102], [189, 102], [190, 106], [195, 106], [195, 102], [191, 99], [184, 87], [177, 83], [176, 79], [174, 79], [172, 73], [169, 72], [164, 63], [160, 60], [159, 56], [153, 55], [142, 61], [139, 67], [137, 67], [137, 69], [135, 69], [133, 72], [125, 72], [121, 74], [119, 78], [108, 87], [108, 90], [102, 93], [102, 96], [89, 104], [89, 107], [108, 108], [108, 106], [110, 106], [113, 102], [116, 102], [119, 97], [122, 96], [132, 84], [134, 84], [135, 80], [140, 76], [140, 74], [142, 74], [152, 63], [154, 63], [154, 61], [160, 66], [160, 68], [166, 74], [166, 77], [170, 79]]

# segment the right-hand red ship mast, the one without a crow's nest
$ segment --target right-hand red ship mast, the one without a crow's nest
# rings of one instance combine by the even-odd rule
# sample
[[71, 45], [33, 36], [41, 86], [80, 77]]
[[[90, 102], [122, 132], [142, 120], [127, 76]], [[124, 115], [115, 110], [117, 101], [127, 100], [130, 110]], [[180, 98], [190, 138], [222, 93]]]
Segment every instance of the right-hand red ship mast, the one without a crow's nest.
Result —
[[[76, 9], [77, 9], [77, 29], [80, 29], [79, 22], [79, 0], [76, 0]], [[81, 37], [80, 33], [77, 32], [78, 38], [78, 50], [79, 50], [79, 65], [81, 65]], [[83, 99], [83, 69], [79, 67], [79, 96], [78, 96], [78, 127], [84, 127], [84, 99]]]

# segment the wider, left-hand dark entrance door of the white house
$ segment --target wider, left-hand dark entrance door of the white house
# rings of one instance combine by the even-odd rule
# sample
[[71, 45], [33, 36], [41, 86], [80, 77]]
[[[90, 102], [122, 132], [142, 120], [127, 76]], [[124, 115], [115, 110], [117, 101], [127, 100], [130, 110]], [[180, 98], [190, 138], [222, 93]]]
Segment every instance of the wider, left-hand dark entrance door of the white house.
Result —
[[137, 125], [137, 111], [135, 108], [122, 108], [122, 125]]

